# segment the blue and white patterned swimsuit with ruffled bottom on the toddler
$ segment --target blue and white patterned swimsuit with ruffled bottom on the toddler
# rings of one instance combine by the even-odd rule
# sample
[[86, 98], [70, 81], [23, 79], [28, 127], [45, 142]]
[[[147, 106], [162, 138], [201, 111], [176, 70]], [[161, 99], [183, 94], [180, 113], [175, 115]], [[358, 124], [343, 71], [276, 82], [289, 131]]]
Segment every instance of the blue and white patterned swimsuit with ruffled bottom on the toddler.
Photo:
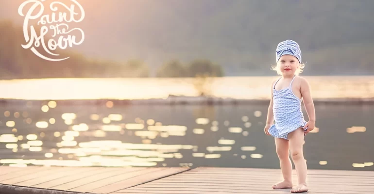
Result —
[[303, 112], [301, 111], [301, 99], [293, 94], [291, 88], [295, 77], [292, 78], [287, 88], [275, 90], [275, 84], [278, 83], [280, 78], [274, 83], [272, 88], [275, 124], [270, 127], [268, 132], [273, 137], [287, 140], [290, 132], [306, 125]]

